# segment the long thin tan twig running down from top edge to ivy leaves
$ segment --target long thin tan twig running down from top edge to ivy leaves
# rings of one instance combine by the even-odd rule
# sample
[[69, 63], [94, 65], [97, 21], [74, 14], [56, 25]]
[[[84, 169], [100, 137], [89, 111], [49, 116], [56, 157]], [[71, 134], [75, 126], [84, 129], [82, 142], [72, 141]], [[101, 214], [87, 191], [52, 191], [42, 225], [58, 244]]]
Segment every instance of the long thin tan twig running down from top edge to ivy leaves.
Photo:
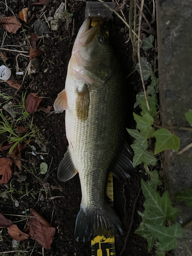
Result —
[[142, 13], [143, 13], [142, 12], [143, 4], [144, 4], [144, 0], [142, 0], [142, 2], [141, 2], [141, 8], [140, 8], [140, 14], [139, 14], [137, 56], [138, 56], [138, 61], [139, 61], [139, 70], [140, 70], [140, 76], [141, 76], [141, 81], [142, 81], [142, 85], [143, 85], [143, 91], [144, 91], [144, 95], [145, 95], [146, 105], [147, 105], [147, 109], [150, 110], [150, 105], [148, 104], [148, 100], [147, 100], [147, 97], [146, 97], [145, 83], [144, 83], [144, 80], [143, 80], [143, 74], [142, 74], [142, 69], [141, 69], [141, 57], [140, 57], [140, 32], [141, 32], [141, 19], [142, 19]]

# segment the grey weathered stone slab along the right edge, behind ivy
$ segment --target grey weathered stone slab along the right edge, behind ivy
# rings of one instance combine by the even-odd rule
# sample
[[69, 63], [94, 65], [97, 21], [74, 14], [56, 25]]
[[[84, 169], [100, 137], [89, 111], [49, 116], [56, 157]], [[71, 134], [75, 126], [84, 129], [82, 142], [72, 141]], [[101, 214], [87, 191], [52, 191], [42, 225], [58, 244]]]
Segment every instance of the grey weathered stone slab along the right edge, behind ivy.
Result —
[[[190, 127], [185, 113], [192, 109], [192, 1], [158, 0], [158, 54], [160, 111], [163, 126]], [[192, 132], [176, 129], [180, 150], [192, 142]], [[177, 221], [184, 225], [192, 220], [192, 208], [174, 200], [177, 192], [192, 188], [192, 148], [178, 155], [165, 151], [165, 189], [174, 206], [181, 209]], [[186, 231], [192, 252], [192, 227]], [[182, 240], [174, 255], [188, 256]]]

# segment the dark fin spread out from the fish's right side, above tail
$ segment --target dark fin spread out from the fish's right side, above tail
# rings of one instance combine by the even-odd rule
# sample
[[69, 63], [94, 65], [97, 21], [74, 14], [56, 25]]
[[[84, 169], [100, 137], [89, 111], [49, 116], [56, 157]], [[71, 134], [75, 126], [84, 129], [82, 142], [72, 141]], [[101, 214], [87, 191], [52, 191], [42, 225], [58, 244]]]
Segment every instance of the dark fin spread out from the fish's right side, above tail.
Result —
[[119, 180], [130, 178], [134, 174], [133, 155], [131, 147], [124, 142], [118, 159], [113, 163], [110, 168], [112, 174]]

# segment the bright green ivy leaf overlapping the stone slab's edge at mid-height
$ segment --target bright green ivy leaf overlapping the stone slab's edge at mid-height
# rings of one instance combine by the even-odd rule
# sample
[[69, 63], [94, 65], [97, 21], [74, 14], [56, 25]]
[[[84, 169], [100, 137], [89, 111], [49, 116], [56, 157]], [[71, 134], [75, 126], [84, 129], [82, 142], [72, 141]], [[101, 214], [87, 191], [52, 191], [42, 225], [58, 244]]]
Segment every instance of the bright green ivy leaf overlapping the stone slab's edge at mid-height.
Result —
[[[139, 127], [138, 127], [139, 129]], [[180, 140], [179, 138], [170, 133], [167, 129], [161, 128], [154, 132], [153, 134], [156, 138], [156, 145], [154, 154], [157, 155], [158, 153], [164, 150], [179, 150]]]

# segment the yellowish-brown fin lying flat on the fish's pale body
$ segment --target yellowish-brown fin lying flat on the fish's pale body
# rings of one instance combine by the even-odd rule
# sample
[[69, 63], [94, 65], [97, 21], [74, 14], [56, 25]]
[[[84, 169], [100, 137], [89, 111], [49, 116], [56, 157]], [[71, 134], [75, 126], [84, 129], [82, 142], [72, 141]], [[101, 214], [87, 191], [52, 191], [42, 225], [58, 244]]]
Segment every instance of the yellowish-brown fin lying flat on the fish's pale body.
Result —
[[88, 119], [89, 104], [90, 104], [89, 90], [88, 90], [87, 84], [85, 84], [83, 89], [80, 92], [77, 91], [77, 98], [76, 98], [77, 117], [82, 121], [85, 121]]

